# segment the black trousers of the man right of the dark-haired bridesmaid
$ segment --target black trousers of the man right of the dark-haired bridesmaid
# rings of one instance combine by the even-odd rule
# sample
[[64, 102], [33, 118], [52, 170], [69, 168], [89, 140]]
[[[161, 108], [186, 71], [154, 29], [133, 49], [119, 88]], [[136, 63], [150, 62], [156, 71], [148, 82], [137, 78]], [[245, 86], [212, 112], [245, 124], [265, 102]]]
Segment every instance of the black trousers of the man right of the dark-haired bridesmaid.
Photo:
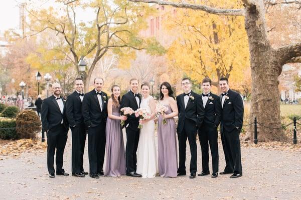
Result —
[[197, 172], [197, 127], [192, 120], [185, 120], [182, 132], [178, 133], [179, 140], [179, 168], [178, 173], [186, 173], [186, 141], [188, 138], [190, 146], [190, 173]]

